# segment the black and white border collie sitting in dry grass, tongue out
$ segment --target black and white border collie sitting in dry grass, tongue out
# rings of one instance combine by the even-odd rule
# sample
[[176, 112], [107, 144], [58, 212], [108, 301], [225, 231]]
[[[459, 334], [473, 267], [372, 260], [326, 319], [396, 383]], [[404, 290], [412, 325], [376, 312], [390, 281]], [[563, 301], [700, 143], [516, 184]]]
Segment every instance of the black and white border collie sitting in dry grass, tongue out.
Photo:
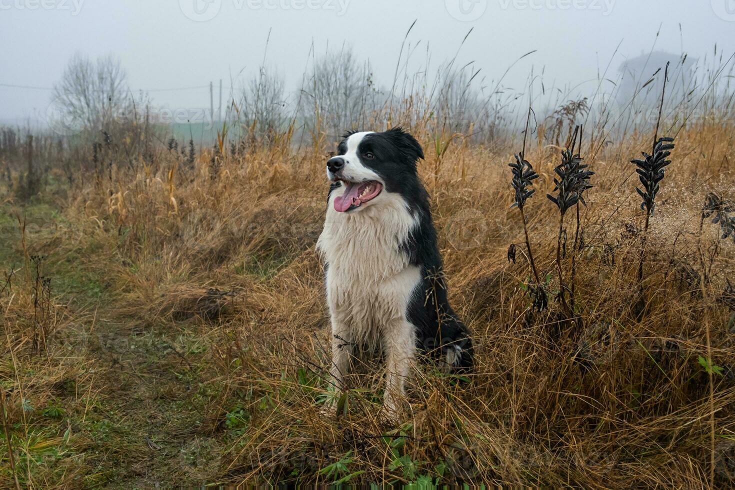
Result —
[[417, 351], [462, 372], [472, 366], [472, 341], [447, 300], [429, 194], [416, 169], [419, 143], [401, 128], [352, 131], [337, 153], [326, 164], [331, 187], [317, 243], [331, 316], [331, 378], [343, 389], [355, 351], [381, 350], [384, 407], [395, 416]]

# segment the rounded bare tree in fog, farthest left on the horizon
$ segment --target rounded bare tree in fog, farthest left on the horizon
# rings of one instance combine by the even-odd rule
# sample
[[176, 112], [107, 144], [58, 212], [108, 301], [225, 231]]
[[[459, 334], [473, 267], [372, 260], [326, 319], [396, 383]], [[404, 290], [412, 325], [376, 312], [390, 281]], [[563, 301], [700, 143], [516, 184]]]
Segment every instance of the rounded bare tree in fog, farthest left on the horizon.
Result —
[[54, 85], [54, 104], [67, 124], [103, 129], [126, 107], [128, 87], [120, 61], [108, 55], [95, 61], [75, 54]]

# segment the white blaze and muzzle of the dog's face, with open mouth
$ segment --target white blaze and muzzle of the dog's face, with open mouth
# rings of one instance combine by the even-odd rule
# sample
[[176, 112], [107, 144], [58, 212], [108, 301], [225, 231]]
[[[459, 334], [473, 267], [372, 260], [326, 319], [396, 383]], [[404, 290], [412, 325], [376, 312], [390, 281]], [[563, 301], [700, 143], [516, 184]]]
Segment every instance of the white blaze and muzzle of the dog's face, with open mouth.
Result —
[[381, 176], [368, 166], [368, 162], [376, 159], [369, 145], [362, 144], [369, 134], [375, 133], [350, 134], [340, 143], [338, 155], [327, 162], [327, 178], [332, 182], [342, 182], [334, 198], [334, 209], [338, 212], [353, 211], [372, 203], [385, 186]]

